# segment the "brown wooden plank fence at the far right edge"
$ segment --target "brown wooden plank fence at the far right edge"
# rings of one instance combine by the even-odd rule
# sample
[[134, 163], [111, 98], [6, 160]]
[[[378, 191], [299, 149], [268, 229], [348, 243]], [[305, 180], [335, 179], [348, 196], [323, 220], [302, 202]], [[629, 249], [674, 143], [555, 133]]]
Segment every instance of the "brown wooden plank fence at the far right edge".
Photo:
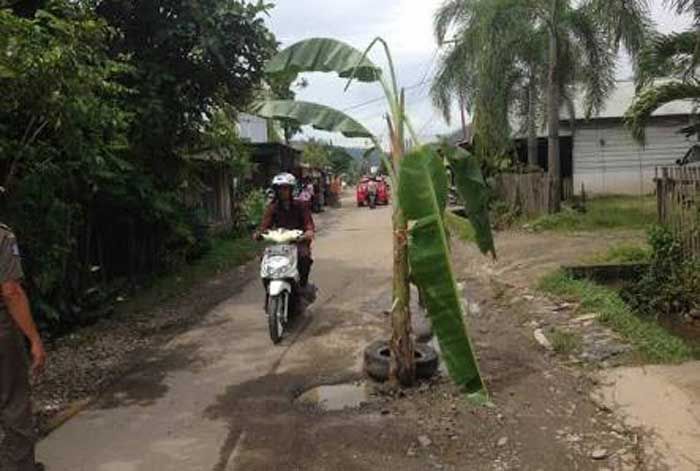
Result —
[[659, 222], [688, 254], [700, 256], [700, 168], [657, 168], [655, 181]]

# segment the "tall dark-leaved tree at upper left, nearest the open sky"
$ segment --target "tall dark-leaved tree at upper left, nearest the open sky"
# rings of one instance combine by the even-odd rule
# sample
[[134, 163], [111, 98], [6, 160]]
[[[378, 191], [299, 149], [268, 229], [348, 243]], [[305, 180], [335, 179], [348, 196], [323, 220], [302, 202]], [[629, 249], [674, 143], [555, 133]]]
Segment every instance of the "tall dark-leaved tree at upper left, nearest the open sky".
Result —
[[[264, 23], [270, 6], [232, 0], [100, 0], [97, 13], [121, 34], [114, 54], [132, 58], [132, 139], [148, 156], [170, 156], [197, 138], [223, 101], [247, 107], [276, 41]], [[165, 169], [163, 169], [165, 171]]]

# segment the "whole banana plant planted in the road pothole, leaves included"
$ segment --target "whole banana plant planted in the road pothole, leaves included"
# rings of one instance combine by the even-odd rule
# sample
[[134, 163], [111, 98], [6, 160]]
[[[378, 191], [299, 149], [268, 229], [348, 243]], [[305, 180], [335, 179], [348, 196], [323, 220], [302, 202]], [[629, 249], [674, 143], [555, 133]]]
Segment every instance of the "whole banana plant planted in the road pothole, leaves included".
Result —
[[[388, 77], [368, 57], [376, 45], [383, 47]], [[423, 293], [428, 316], [441, 347], [450, 376], [478, 401], [488, 397], [464, 325], [464, 312], [450, 265], [446, 218], [455, 224], [454, 214], [446, 210], [447, 159], [456, 176], [458, 192], [465, 200], [467, 216], [475, 228], [482, 252], [493, 252], [493, 238], [486, 212], [486, 186], [475, 159], [465, 151], [420, 146], [406, 115], [404, 90], [398, 86], [389, 47], [377, 38], [364, 51], [330, 38], [312, 38], [284, 49], [267, 64], [270, 74], [334, 72], [347, 79], [377, 82], [387, 99], [386, 122], [391, 151], [382, 158], [398, 188], [393, 202], [393, 305], [391, 312], [391, 378], [403, 386], [415, 380], [414, 346], [411, 332], [409, 282]], [[256, 112], [266, 118], [290, 119], [316, 129], [340, 132], [347, 137], [368, 137], [377, 149], [379, 140], [344, 113], [317, 104], [268, 101]], [[416, 145], [406, 155], [406, 134]], [[459, 219], [459, 218], [457, 218]], [[466, 221], [457, 221], [463, 224]]]

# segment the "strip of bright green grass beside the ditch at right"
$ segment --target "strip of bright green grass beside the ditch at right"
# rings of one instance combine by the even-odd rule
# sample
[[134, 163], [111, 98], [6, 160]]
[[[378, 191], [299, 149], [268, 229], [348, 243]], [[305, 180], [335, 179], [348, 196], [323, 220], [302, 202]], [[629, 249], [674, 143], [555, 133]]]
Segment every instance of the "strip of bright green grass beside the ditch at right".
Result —
[[546, 276], [539, 288], [549, 294], [581, 303], [586, 313], [625, 337], [645, 361], [677, 363], [693, 358], [693, 349], [657, 323], [645, 320], [625, 304], [617, 292], [590, 281], [574, 280], [561, 271]]

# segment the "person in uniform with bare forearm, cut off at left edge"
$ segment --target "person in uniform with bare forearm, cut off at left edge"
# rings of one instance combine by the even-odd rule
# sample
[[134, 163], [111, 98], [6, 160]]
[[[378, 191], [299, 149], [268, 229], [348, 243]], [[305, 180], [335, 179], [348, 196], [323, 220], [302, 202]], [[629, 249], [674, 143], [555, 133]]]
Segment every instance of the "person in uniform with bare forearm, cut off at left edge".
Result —
[[29, 386], [29, 363], [24, 338], [29, 341], [31, 370], [41, 372], [46, 352], [21, 285], [19, 247], [12, 231], [0, 224], [0, 469], [42, 471], [35, 461], [34, 418]]

